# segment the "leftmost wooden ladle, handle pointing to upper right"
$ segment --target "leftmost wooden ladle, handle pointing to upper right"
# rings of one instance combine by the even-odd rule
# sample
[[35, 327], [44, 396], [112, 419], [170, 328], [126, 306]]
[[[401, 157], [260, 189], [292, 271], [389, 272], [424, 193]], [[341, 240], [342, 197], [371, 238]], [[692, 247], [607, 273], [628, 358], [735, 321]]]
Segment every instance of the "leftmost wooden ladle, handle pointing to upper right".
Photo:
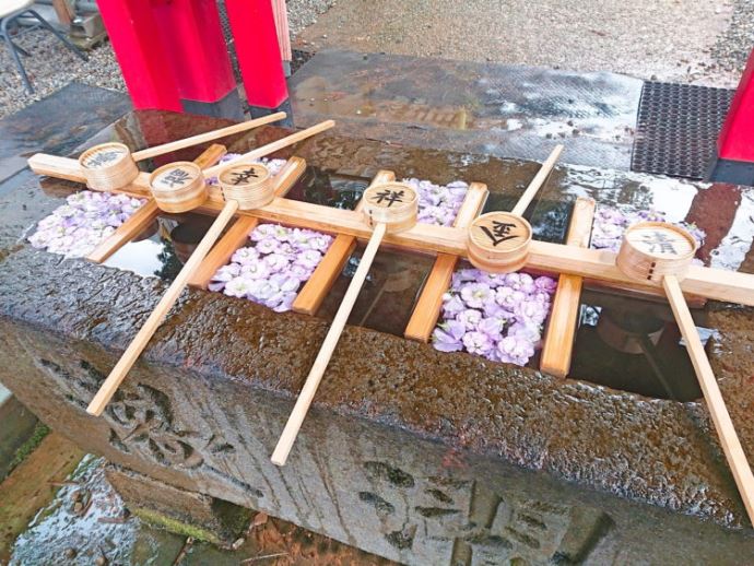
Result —
[[79, 157], [79, 165], [86, 179], [86, 186], [93, 190], [114, 190], [126, 187], [139, 175], [137, 162], [156, 157], [173, 151], [182, 150], [208, 141], [251, 130], [266, 123], [282, 120], [285, 113], [271, 114], [254, 120], [234, 123], [217, 130], [191, 135], [154, 148], [146, 148], [131, 153], [122, 143], [101, 143], [84, 151]]

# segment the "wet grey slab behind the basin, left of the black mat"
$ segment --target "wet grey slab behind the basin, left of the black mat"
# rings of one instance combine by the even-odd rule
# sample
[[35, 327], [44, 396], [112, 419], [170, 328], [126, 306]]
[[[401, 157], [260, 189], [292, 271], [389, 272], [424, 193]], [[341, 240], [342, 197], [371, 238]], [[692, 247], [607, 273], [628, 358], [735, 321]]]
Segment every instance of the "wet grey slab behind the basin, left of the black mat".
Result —
[[320, 51], [291, 82], [296, 126], [334, 118], [342, 134], [497, 157], [631, 168], [643, 81], [399, 55]]

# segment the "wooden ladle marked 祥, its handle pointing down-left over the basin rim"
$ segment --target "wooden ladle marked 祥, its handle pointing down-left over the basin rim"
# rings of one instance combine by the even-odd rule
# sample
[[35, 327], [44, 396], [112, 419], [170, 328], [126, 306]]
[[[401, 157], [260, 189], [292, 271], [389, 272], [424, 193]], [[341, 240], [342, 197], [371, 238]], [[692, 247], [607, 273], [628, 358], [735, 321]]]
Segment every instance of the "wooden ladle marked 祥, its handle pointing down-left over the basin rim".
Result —
[[364, 285], [364, 280], [369, 272], [369, 267], [377, 255], [382, 237], [385, 237], [388, 231], [400, 232], [416, 224], [419, 197], [409, 185], [402, 182], [373, 185], [364, 191], [362, 202], [364, 203], [364, 214], [374, 226], [374, 231], [364, 250], [364, 255], [358, 262], [356, 273], [351, 280], [351, 284], [332, 320], [330, 330], [328, 330], [325, 341], [317, 354], [317, 358], [311, 366], [311, 370], [304, 382], [304, 387], [296, 400], [291, 416], [287, 423], [285, 423], [283, 434], [280, 436], [278, 445], [272, 453], [272, 463], [276, 465], [285, 465], [285, 461], [298, 436], [298, 431], [304, 423], [304, 418], [306, 418], [306, 413], [311, 405], [317, 388], [322, 380], [325, 370], [338, 345], [340, 335], [343, 333], [343, 328], [345, 328], [345, 323], [349, 320], [349, 315], [351, 315], [351, 310], [353, 310], [362, 285]]

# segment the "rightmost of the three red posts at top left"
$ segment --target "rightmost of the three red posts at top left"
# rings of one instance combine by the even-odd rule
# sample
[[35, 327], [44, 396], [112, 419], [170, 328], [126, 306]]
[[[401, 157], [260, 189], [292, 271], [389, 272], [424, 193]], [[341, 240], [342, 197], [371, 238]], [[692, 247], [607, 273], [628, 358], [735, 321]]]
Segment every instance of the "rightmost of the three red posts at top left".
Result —
[[288, 98], [271, 0], [225, 0], [246, 97], [259, 110]]

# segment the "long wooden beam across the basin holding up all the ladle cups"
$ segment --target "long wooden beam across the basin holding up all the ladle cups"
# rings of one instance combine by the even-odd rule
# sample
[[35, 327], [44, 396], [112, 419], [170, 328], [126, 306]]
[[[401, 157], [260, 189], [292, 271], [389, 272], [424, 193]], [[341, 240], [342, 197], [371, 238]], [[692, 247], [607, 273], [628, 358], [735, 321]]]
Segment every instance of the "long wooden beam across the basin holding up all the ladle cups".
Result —
[[[74, 160], [36, 154], [30, 158], [30, 166], [32, 170], [40, 175], [83, 181], [79, 164]], [[142, 174], [132, 185], [115, 192], [143, 196], [148, 181], [149, 176]], [[222, 208], [222, 198], [211, 196], [196, 212], [216, 215]], [[255, 211], [239, 211], [238, 214], [320, 232], [345, 234], [364, 240], [369, 239], [372, 235], [370, 226], [358, 212], [286, 199], [275, 199], [267, 207]], [[388, 234], [385, 237], [386, 245], [410, 248], [420, 252], [443, 252], [459, 257], [467, 257], [466, 240], [466, 229], [427, 224], [416, 224], [411, 229]], [[661, 286], [636, 282], [623, 274], [615, 266], [615, 253], [609, 250], [532, 241], [526, 269], [543, 273], [579, 275], [585, 278], [586, 285], [594, 281], [600, 287], [617, 284], [622, 288], [664, 296]], [[754, 275], [746, 273], [691, 266], [686, 278], [681, 282], [681, 288], [690, 295], [754, 306]]]

